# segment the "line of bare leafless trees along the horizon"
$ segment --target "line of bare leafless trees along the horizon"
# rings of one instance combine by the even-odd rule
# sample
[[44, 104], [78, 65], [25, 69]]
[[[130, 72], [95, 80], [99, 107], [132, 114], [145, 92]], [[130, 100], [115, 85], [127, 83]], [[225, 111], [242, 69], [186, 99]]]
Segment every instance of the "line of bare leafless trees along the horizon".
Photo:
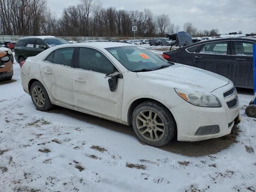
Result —
[[[155, 15], [150, 9], [117, 10], [104, 8], [98, 0], [81, 0], [76, 6], [64, 8], [57, 16], [48, 8], [46, 0], [1, 0], [0, 34], [53, 36], [133, 36], [163, 37], [180, 30], [167, 14]], [[197, 30], [191, 22], [183, 30], [192, 36], [218, 36], [219, 30]]]

